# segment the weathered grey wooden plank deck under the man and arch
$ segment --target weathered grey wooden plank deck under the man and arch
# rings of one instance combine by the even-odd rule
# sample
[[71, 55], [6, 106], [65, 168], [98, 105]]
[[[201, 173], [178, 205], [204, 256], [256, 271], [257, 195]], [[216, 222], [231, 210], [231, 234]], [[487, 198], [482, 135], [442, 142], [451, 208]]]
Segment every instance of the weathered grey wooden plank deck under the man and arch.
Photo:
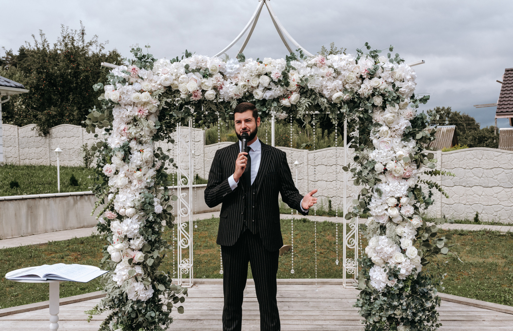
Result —
[[[279, 284], [278, 307], [284, 331], [352, 331], [363, 329], [357, 309], [352, 305], [358, 291], [341, 285]], [[243, 304], [243, 330], [259, 330], [260, 316], [254, 285], [248, 284]], [[85, 310], [100, 299], [77, 302], [60, 307], [60, 331], [93, 331], [102, 316], [86, 321]], [[189, 290], [184, 302], [185, 314], [175, 314], [170, 330], [222, 330], [223, 287], [221, 284], [198, 284]], [[438, 309], [441, 331], [511, 331], [513, 315], [442, 301]], [[48, 330], [48, 308], [0, 317], [2, 331]]]

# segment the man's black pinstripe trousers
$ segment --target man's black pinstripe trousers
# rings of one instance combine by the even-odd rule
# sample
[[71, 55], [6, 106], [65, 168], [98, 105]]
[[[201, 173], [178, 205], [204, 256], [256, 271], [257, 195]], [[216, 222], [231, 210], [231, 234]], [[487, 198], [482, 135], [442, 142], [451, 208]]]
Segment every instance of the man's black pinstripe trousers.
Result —
[[260, 234], [244, 231], [233, 246], [221, 246], [223, 256], [223, 331], [241, 331], [242, 301], [248, 277], [248, 262], [257, 291], [260, 329], [279, 331], [280, 315], [276, 301], [276, 274], [280, 251], [264, 248]]

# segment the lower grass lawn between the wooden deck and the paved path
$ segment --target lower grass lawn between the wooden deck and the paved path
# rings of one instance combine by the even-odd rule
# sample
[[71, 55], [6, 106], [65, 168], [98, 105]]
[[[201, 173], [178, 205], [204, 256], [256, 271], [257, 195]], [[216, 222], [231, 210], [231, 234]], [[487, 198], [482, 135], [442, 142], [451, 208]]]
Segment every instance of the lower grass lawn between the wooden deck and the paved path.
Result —
[[[194, 278], [222, 278], [220, 271], [220, 247], [215, 244], [219, 218], [197, 222], [194, 229]], [[282, 220], [282, 234], [290, 243], [290, 220]], [[294, 220], [294, 274], [290, 273], [291, 254], [280, 257], [278, 278], [315, 278], [315, 224], [306, 219]], [[342, 225], [339, 224], [339, 265], [335, 263], [337, 247], [336, 224], [317, 223], [317, 277], [342, 278]], [[448, 233], [448, 232], [447, 232]], [[453, 250], [456, 257], [439, 260], [429, 269], [433, 273], [447, 273], [442, 292], [478, 300], [513, 305], [513, 234], [498, 232], [451, 231], [454, 235]], [[172, 231], [165, 236], [171, 240]], [[41, 246], [23, 246], [0, 250], [0, 275], [17, 268], [52, 263], [82, 263], [99, 265], [104, 240], [100, 236], [75, 238], [51, 242]], [[366, 246], [365, 239], [362, 246]], [[186, 253], [186, 252], [185, 252]], [[172, 251], [164, 259], [160, 269], [173, 271]], [[352, 257], [349, 253], [348, 257]], [[445, 261], [449, 263], [444, 264]], [[437, 262], [437, 261], [435, 261]], [[175, 266], [176, 270], [176, 266]], [[186, 275], [184, 275], [186, 276]], [[248, 277], [251, 278], [251, 272]], [[100, 281], [89, 283], [61, 283], [61, 297], [97, 291]], [[0, 307], [48, 300], [47, 284], [18, 283], [2, 278], [0, 282]]]

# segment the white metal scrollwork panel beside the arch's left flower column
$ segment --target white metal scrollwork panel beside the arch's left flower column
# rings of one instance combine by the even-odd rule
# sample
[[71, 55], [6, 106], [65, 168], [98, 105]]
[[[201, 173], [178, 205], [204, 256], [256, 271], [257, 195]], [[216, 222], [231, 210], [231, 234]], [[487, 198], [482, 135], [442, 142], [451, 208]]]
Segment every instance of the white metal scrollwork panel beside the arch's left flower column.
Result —
[[[193, 259], [192, 259], [192, 119], [189, 120], [188, 137], [185, 129], [180, 127], [180, 123], [176, 126], [176, 143], [178, 168], [176, 171], [176, 187], [178, 200], [177, 206], [177, 251], [178, 251], [178, 284], [185, 287], [193, 285]], [[186, 137], [188, 138], [186, 140]], [[183, 189], [188, 187], [188, 194]], [[188, 195], [188, 196], [187, 196]], [[185, 254], [184, 254], [185, 253]], [[187, 257], [188, 253], [188, 257]], [[188, 275], [184, 277], [184, 275]]]

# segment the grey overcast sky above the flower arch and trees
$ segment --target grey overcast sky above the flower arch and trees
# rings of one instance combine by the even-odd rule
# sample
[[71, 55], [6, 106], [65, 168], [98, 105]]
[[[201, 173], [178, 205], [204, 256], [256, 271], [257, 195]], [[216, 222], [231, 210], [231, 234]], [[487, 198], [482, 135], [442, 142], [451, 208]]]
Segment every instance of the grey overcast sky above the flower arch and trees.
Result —
[[[60, 25], [86, 27], [107, 49], [125, 56], [129, 46], [151, 45], [155, 57], [181, 56], [185, 49], [214, 55], [243, 29], [257, 0], [187, 1], [24, 1], [0, 0], [0, 46], [17, 50], [38, 30], [55, 42]], [[423, 109], [450, 106], [475, 117], [481, 127], [494, 125], [495, 107], [505, 68], [513, 67], [513, 2], [492, 0], [272, 0], [281, 23], [306, 50], [315, 53], [335, 42], [354, 54], [365, 42], [394, 46], [415, 67], [417, 92], [431, 99]], [[239, 42], [228, 54], [236, 55]], [[3, 51], [0, 51], [3, 55]], [[284, 57], [287, 50], [267, 11], [244, 54]], [[498, 119], [498, 127], [509, 127]]]

